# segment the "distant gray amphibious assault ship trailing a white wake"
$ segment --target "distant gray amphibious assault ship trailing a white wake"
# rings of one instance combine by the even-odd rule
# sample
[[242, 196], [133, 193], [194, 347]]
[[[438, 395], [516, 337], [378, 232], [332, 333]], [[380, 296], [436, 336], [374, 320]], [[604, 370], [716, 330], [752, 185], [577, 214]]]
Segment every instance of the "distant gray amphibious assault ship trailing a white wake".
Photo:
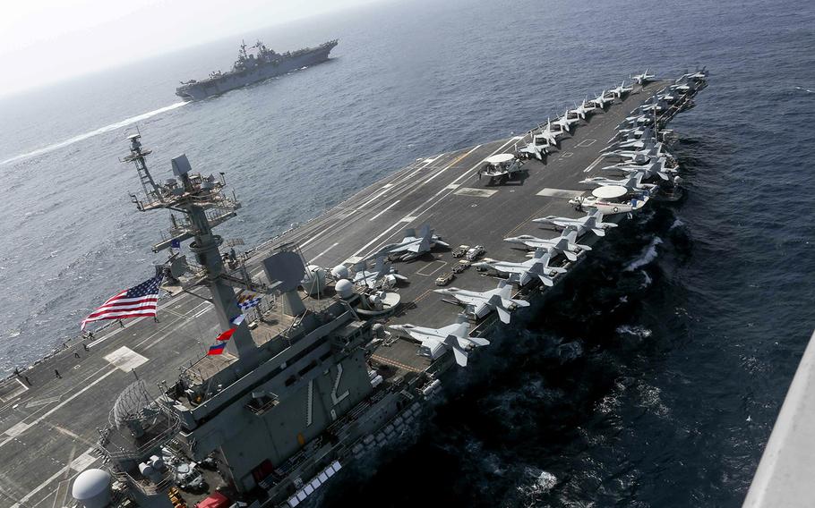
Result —
[[181, 86], [176, 89], [176, 95], [185, 99], [200, 100], [296, 71], [315, 63], [322, 63], [328, 60], [329, 53], [338, 42], [330, 40], [318, 47], [306, 47], [283, 54], [276, 53], [261, 41], [249, 47], [251, 51], [247, 51], [246, 44], [241, 43], [237, 60], [233, 63], [231, 71], [210, 72], [206, 80], [181, 81]]

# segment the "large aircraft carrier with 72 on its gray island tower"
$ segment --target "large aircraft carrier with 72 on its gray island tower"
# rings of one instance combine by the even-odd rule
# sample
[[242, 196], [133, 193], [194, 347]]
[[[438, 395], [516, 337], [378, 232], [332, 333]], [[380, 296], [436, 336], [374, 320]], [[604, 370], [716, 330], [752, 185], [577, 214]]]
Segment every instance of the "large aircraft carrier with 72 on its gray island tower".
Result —
[[[545, 305], [616, 223], [679, 195], [681, 168], [652, 171], [634, 154], [640, 169], [609, 172], [620, 161], [601, 154], [615, 140], [665, 158], [648, 136], [671, 137], [666, 123], [694, 106], [707, 72], [640, 81], [584, 102], [591, 113], [418, 159], [244, 253], [212, 231], [241, 207], [224, 174], [196, 174], [180, 156], [173, 178], [154, 179], [167, 169], [148, 169], [132, 136], [135, 207], [172, 214], [153, 250], [169, 252], [159, 269], [174, 296], [157, 319], [105, 326], [0, 383], [0, 506], [308, 504], [356, 458], [412, 432], [450, 377], [491, 354], [493, 328], [521, 303]], [[541, 142], [553, 132], [554, 146]], [[581, 183], [607, 176], [621, 183]], [[619, 193], [592, 192], [603, 187]], [[571, 233], [545, 260], [504, 241]], [[501, 274], [498, 259], [528, 269]], [[433, 292], [498, 285], [509, 294], [467, 308]], [[260, 305], [242, 308], [247, 296]], [[227, 329], [227, 351], [208, 355]]]

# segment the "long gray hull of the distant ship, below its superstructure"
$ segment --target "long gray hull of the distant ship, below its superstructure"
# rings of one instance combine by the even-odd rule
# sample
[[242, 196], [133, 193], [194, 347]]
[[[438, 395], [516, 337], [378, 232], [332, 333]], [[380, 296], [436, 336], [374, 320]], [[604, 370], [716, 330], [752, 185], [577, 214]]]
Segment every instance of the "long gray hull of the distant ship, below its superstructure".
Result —
[[318, 47], [305, 55], [297, 55], [274, 63], [259, 65], [242, 72], [229, 72], [216, 79], [203, 80], [176, 89], [176, 95], [187, 100], [202, 100], [239, 89], [262, 80], [296, 71], [329, 59], [333, 46]]

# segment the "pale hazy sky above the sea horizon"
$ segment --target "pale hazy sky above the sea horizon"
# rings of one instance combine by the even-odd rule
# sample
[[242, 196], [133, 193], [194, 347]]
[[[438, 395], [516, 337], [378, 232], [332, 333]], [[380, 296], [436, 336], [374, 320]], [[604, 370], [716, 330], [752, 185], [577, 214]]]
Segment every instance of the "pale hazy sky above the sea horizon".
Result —
[[371, 0], [10, 0], [0, 96]]

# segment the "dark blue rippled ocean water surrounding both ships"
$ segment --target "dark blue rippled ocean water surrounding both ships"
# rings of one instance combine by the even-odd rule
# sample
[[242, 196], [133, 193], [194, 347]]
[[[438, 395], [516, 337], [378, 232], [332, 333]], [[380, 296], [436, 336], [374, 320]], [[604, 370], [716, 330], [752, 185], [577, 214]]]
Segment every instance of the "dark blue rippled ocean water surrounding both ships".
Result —
[[416, 0], [244, 34], [329, 63], [182, 104], [235, 40], [0, 98], [0, 372], [150, 274], [125, 131], [154, 174], [227, 173], [248, 244], [416, 157], [520, 132], [649, 66], [711, 71], [672, 128], [687, 199], [615, 232], [327, 506], [740, 505], [815, 328], [815, 7]]

